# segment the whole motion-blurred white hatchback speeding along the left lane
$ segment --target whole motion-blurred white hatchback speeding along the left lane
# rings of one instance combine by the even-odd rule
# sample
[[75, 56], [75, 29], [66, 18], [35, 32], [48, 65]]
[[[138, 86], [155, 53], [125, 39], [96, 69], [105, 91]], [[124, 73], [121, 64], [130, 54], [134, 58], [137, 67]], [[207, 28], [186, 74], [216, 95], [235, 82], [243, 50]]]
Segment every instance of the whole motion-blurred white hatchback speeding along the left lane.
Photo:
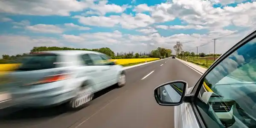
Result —
[[111, 85], [125, 85], [121, 65], [93, 51], [61, 50], [35, 52], [8, 75], [12, 102], [22, 107], [43, 107], [67, 103], [81, 108], [93, 93]]

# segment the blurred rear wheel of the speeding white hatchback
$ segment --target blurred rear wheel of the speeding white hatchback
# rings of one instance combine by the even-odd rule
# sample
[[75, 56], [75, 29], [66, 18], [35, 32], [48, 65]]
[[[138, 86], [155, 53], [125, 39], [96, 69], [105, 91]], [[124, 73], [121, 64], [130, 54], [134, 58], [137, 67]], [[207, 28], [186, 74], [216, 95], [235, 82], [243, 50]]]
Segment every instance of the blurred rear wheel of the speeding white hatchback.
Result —
[[84, 108], [88, 105], [88, 103], [93, 99], [94, 94], [88, 93], [85, 91], [85, 86], [81, 86], [78, 89], [77, 96], [70, 99], [69, 102], [67, 102], [67, 108], [70, 110], [80, 110], [81, 108]]

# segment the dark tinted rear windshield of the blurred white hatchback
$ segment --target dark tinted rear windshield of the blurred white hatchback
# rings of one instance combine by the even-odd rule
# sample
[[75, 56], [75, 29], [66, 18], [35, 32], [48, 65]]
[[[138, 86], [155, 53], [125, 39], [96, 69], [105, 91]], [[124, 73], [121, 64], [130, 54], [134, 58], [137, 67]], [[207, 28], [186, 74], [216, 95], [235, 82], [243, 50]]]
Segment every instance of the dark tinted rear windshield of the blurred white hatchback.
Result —
[[58, 55], [55, 54], [28, 55], [17, 70], [32, 71], [55, 68], [57, 57]]

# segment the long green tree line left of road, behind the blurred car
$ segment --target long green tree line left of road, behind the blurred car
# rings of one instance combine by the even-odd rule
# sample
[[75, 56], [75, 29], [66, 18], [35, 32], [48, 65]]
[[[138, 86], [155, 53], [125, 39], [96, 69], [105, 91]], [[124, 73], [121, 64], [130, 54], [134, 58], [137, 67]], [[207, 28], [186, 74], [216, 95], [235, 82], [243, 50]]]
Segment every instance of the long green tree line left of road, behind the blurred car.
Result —
[[[124, 59], [124, 58], [166, 58], [172, 55], [171, 49], [158, 47], [157, 49], [152, 50], [151, 52], [113, 52], [108, 47], [102, 47], [99, 49], [77, 49], [77, 48], [69, 48], [69, 47], [33, 47], [30, 50], [31, 52], [41, 52], [41, 51], [54, 51], [54, 50], [85, 50], [85, 51], [96, 51], [102, 52], [112, 59]], [[18, 55], [2, 55], [2, 59], [0, 59], [0, 64], [7, 63], [20, 63], [23, 56], [28, 55], [29, 53], [23, 53]]]

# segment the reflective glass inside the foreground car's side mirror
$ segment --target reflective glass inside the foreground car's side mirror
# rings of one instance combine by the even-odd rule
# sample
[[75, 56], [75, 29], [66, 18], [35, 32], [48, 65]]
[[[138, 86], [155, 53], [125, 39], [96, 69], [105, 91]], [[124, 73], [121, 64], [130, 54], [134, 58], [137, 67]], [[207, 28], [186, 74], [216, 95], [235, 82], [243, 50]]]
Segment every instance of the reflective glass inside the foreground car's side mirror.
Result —
[[169, 83], [157, 88], [157, 97], [161, 103], [179, 103], [186, 85], [183, 82]]

